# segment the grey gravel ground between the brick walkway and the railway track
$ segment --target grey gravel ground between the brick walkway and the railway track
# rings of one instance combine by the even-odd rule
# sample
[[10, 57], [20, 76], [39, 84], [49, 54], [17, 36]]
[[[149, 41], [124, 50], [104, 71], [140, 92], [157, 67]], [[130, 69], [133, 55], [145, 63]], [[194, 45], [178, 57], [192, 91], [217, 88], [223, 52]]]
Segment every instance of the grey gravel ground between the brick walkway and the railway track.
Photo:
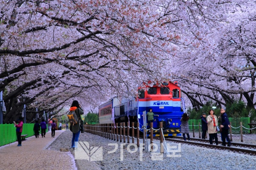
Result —
[[[198, 133], [195, 133], [195, 135], [196, 134]], [[193, 134], [190, 133], [190, 136], [192, 137]], [[220, 139], [220, 136], [218, 138]], [[67, 130], [62, 133], [47, 149], [69, 149], [71, 139], [72, 133]], [[244, 138], [244, 143], [248, 142], [250, 144], [256, 144], [255, 139], [255, 137]], [[241, 140], [240, 136], [233, 136], [234, 142], [239, 142], [239, 140]], [[91, 133], [81, 133], [79, 142], [80, 144], [90, 145], [90, 162], [87, 160], [76, 160], [78, 170], [87, 170], [88, 164], [93, 167], [92, 169], [98, 170], [255, 170], [256, 167], [256, 156], [233, 153], [225, 150], [195, 147], [188, 144], [181, 144], [179, 151], [179, 144], [169, 142], [169, 146], [173, 147], [170, 150], [174, 150], [176, 153], [172, 155], [173, 153], [171, 152], [170, 155], [168, 155], [165, 152], [161, 155], [159, 141], [154, 141], [156, 142], [155, 145], [158, 149], [157, 147], [154, 147], [154, 151], [151, 153], [142, 151], [140, 148], [136, 148], [137, 150], [132, 149], [132, 147], [130, 147], [130, 150], [122, 149], [122, 143], [93, 135]], [[141, 140], [140, 143], [142, 143]], [[115, 146], [116, 151], [114, 150]], [[93, 155], [92, 147], [94, 147], [94, 149], [98, 149], [96, 150], [98, 151], [98, 157], [96, 157], [96, 154]], [[102, 150], [100, 150], [101, 148]], [[76, 156], [76, 151], [71, 153]], [[86, 156], [86, 153], [84, 152], [83, 155]], [[87, 156], [86, 158], [89, 157]], [[93, 159], [99, 161], [93, 161]]]

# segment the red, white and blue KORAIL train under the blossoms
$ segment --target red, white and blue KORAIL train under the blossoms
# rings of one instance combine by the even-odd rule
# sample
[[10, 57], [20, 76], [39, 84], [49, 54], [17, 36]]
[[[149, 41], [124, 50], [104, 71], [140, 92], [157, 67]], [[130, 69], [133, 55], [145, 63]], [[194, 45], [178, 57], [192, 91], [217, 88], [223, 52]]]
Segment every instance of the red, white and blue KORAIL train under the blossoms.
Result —
[[113, 97], [99, 106], [99, 123], [116, 125], [128, 122], [131, 127], [131, 122], [134, 122], [134, 125], [139, 122], [140, 131], [145, 125], [149, 129], [150, 125], [143, 122], [143, 112], [147, 113], [150, 108], [155, 115], [159, 115], [154, 116], [153, 136], [160, 135], [160, 122], [163, 122], [164, 136], [181, 136], [180, 119], [186, 110], [177, 81], [148, 81], [143, 83], [143, 88], [138, 88], [138, 95], [134, 99]]

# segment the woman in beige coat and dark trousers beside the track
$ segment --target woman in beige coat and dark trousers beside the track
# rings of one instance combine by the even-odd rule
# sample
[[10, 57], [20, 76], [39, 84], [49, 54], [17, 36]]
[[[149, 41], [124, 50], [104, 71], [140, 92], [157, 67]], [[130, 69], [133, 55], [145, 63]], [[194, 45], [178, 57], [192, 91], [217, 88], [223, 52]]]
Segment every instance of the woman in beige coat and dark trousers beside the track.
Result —
[[209, 133], [209, 142], [212, 144], [212, 138], [215, 138], [215, 144], [218, 145], [218, 136], [217, 136], [217, 126], [218, 120], [217, 116], [215, 116], [214, 111], [209, 110], [209, 115], [207, 116], [207, 125], [208, 125], [208, 133]]

